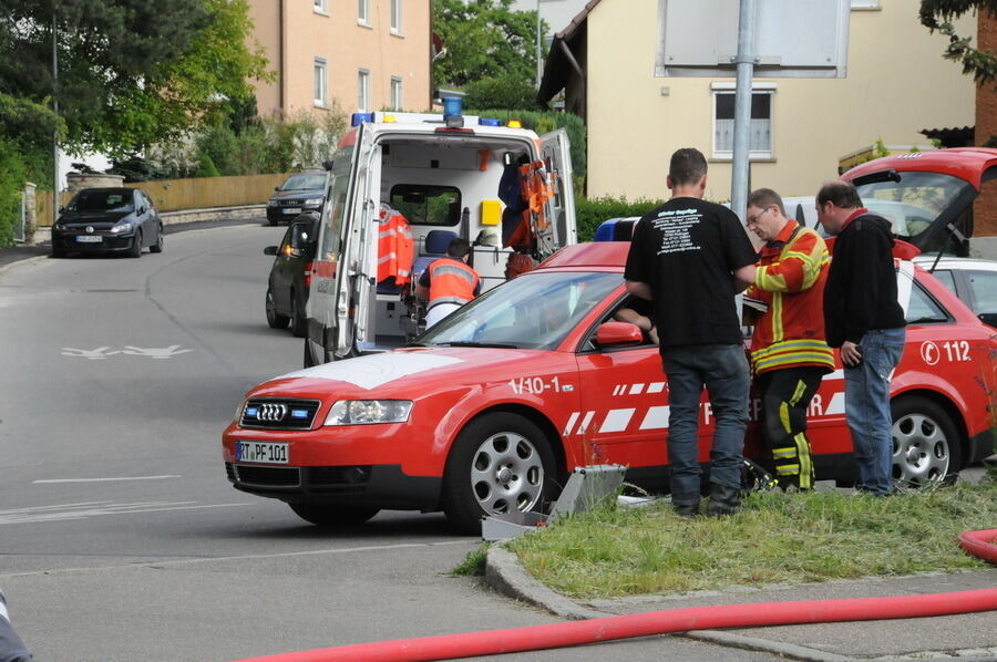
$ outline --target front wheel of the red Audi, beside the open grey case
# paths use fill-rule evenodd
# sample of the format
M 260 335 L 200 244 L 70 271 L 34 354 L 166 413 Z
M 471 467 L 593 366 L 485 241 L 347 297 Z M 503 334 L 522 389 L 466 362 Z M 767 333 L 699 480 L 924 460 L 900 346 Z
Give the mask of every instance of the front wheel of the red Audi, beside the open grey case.
M 524 416 L 485 414 L 458 435 L 443 476 L 443 511 L 466 534 L 481 534 L 485 515 L 541 511 L 557 489 L 554 453 Z

